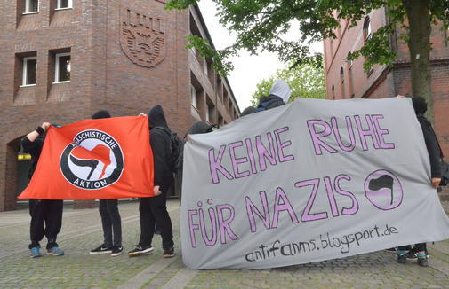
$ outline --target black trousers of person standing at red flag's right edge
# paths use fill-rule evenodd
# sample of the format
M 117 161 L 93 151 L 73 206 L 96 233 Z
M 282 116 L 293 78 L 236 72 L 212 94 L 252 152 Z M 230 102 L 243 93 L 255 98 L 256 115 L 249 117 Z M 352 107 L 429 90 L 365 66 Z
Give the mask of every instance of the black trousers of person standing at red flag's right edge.
M 151 246 L 155 233 L 155 223 L 157 229 L 161 231 L 163 248 L 173 246 L 172 220 L 167 212 L 167 191 L 156 197 L 140 198 L 140 240 L 141 246 Z

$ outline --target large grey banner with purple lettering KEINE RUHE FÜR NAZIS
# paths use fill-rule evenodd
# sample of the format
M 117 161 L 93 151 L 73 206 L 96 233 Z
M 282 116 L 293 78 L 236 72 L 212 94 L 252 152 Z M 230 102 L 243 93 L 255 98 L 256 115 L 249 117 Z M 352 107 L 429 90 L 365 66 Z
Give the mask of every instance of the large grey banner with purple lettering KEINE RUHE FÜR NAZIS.
M 410 99 L 297 99 L 191 138 L 181 207 L 191 269 L 271 268 L 449 238 Z

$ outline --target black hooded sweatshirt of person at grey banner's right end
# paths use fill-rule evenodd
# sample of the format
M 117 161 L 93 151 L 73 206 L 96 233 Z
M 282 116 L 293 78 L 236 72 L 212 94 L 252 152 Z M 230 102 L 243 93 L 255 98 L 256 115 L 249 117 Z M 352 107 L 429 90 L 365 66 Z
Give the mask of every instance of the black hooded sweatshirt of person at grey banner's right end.
M 438 144 L 437 135 L 432 128 L 430 122 L 424 116 L 427 111 L 426 100 L 421 97 L 413 97 L 413 108 L 416 113 L 416 118 L 420 121 L 422 134 L 424 135 L 424 141 L 426 143 L 427 151 L 429 152 L 430 159 L 430 172 L 431 177 L 441 177 L 441 168 L 439 165 L 440 158 L 443 158 L 443 152 Z

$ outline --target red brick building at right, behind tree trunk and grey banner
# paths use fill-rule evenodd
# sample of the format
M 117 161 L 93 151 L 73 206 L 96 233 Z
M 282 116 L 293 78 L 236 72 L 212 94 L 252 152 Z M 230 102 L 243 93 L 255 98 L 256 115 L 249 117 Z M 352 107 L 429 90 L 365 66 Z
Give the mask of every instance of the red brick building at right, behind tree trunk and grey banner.
M 348 29 L 349 23 L 341 20 L 341 28 L 335 31 L 337 39 L 326 39 L 325 78 L 328 99 L 390 98 L 397 94 L 412 94 L 410 55 L 408 46 L 399 39 L 402 31 L 397 28 L 390 36 L 391 50 L 397 51 L 392 67 L 376 65 L 364 72 L 364 59 L 347 61 L 351 51 L 360 49 L 366 39 L 389 21 L 385 9 L 366 15 L 357 27 Z M 449 156 L 449 31 L 432 27 L 430 41 L 431 90 L 434 101 L 434 128 L 446 156 Z

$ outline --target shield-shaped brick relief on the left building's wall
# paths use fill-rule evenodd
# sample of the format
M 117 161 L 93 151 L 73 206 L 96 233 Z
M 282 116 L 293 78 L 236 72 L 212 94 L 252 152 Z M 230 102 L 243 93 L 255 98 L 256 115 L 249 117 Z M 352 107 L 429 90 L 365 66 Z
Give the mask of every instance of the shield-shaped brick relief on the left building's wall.
M 160 17 L 120 12 L 120 44 L 124 54 L 138 66 L 154 67 L 165 58 L 165 35 Z

